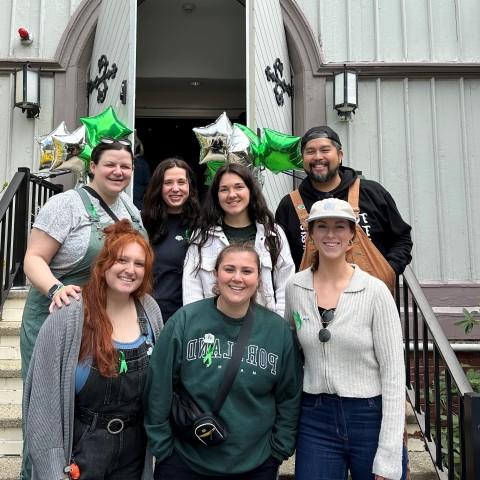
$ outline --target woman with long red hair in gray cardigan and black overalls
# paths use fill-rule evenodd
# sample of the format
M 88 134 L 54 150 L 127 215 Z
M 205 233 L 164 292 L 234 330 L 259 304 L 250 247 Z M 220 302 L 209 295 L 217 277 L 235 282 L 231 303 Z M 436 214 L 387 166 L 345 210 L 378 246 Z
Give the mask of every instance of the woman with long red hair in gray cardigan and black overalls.
M 33 479 L 151 475 L 142 394 L 163 325 L 148 295 L 152 263 L 129 221 L 109 226 L 82 298 L 42 326 L 24 389 Z

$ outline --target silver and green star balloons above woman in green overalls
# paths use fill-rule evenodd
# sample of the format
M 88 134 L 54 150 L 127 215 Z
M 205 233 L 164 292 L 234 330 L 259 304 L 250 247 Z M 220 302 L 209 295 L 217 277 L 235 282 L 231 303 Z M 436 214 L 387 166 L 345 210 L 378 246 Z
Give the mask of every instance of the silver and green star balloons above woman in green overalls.
M 65 122 L 61 122 L 54 130 L 46 135 L 36 137 L 40 144 L 40 168 L 54 170 L 67 159 L 78 156 L 88 165 L 93 148 L 100 143 L 103 137 L 122 138 L 132 133 L 115 114 L 112 107 L 108 107 L 94 117 L 80 118 L 82 125 L 73 132 L 69 132 Z

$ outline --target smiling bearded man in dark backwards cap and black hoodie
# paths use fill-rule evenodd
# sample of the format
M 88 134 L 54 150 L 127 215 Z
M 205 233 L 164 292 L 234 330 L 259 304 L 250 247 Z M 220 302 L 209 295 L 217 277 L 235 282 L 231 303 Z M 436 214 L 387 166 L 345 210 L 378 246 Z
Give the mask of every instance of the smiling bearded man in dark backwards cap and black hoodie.
M 342 165 L 342 144 L 330 127 L 308 130 L 301 140 L 301 152 L 307 174 L 298 188 L 301 203 L 294 205 L 290 194 L 286 195 L 275 214 L 275 220 L 287 235 L 297 270 L 307 232 L 300 223 L 296 208 L 306 209 L 308 213 L 313 203 L 324 198 L 348 200 L 349 187 L 358 176 L 355 170 Z M 359 208 L 360 226 L 393 270 L 402 273 L 412 259 L 411 227 L 403 221 L 392 196 L 379 183 L 362 179 Z

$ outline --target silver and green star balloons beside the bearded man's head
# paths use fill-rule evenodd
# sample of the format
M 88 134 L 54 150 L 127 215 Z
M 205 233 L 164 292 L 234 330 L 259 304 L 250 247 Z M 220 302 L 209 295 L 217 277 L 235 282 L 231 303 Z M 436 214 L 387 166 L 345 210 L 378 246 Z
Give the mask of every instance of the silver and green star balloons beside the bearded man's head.
M 225 112 L 210 125 L 193 131 L 200 144 L 200 164 L 207 165 L 207 184 L 218 168 L 229 162 L 273 173 L 302 168 L 300 137 L 264 128 L 259 138 L 245 125 L 232 125 Z

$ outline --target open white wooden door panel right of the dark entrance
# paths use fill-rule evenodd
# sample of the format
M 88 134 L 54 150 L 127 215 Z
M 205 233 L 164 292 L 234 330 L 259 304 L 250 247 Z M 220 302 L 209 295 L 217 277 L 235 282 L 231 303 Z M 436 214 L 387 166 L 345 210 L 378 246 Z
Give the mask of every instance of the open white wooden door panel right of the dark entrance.
M 285 93 L 284 104 L 277 105 L 273 92 L 275 84 L 268 81 L 265 75 L 265 68 L 273 67 L 275 60 L 280 58 L 283 63 L 283 78 L 287 83 L 292 81 L 279 0 L 251 0 L 247 8 L 253 9 L 249 11 L 252 23 L 247 35 L 247 56 L 251 68 L 247 79 L 248 125 L 252 129 L 270 128 L 291 134 L 291 98 Z M 263 193 L 272 210 L 275 210 L 280 199 L 291 190 L 291 186 L 290 176 L 265 172 Z

